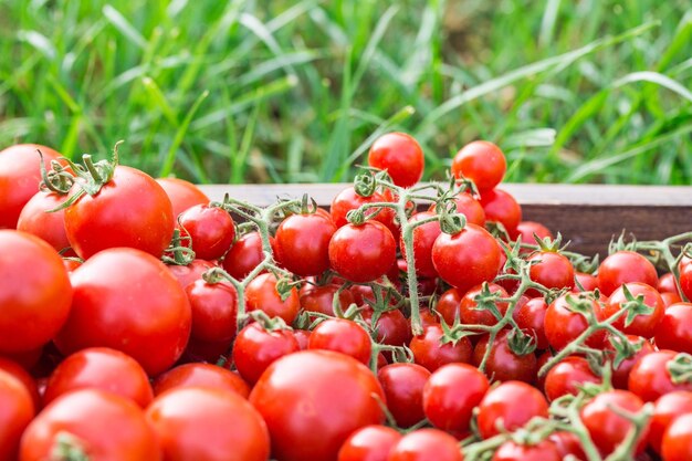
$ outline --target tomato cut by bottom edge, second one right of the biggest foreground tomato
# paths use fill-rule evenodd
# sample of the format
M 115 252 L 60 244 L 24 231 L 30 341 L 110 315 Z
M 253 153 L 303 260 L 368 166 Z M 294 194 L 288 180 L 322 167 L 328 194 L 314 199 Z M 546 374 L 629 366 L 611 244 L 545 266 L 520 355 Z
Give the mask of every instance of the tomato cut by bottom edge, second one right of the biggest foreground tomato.
M 387 461 L 463 461 L 457 439 L 439 429 L 418 429 L 394 446 Z

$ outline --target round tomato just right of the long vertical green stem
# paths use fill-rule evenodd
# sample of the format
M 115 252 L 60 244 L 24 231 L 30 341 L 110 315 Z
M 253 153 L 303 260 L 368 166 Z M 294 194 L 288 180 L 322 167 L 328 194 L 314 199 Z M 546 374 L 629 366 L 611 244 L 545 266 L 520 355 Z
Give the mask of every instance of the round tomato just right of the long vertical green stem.
M 485 229 L 466 224 L 454 235 L 441 233 L 432 245 L 432 264 L 440 277 L 466 292 L 492 282 L 500 270 L 500 247 Z

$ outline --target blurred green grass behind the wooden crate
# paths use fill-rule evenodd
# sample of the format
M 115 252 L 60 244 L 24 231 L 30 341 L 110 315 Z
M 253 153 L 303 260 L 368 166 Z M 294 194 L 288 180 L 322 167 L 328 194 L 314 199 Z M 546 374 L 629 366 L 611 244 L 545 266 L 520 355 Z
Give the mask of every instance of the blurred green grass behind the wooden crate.
M 400 129 L 427 178 L 485 138 L 512 181 L 689 185 L 689 4 L 0 0 L 0 146 L 310 182 Z

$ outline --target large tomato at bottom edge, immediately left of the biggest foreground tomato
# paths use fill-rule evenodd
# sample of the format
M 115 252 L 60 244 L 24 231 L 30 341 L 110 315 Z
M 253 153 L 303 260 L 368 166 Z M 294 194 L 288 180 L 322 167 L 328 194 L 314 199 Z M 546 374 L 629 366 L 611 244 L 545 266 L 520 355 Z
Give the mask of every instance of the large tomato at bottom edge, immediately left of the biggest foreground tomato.
M 156 397 L 146 417 L 166 460 L 265 461 L 266 425 L 239 395 L 211 388 L 178 388 Z

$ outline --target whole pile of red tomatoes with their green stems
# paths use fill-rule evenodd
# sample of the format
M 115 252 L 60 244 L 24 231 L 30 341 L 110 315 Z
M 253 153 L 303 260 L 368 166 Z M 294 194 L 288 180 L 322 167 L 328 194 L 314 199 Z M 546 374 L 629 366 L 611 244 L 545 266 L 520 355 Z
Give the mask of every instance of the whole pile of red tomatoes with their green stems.
M 0 151 L 0 461 L 692 459 L 690 233 L 569 252 L 486 142 L 329 210 L 83 160 Z

